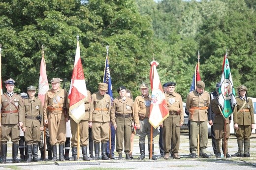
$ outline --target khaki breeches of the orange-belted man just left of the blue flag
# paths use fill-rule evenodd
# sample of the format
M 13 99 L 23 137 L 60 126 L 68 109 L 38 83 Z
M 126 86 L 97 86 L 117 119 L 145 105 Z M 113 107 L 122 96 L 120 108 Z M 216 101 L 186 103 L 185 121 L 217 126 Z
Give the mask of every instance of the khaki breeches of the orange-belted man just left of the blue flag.
M 109 140 L 109 122 L 92 122 L 92 139 L 94 143 L 106 143 Z

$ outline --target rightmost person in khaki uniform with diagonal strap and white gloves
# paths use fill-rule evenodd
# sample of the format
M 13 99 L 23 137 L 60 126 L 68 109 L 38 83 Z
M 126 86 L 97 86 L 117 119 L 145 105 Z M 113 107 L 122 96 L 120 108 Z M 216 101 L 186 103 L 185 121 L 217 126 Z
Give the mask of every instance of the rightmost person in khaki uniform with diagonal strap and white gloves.
M 250 136 L 252 135 L 255 123 L 253 101 L 247 97 L 246 93 L 246 86 L 241 85 L 238 87 L 239 97 L 236 97 L 237 105 L 233 113 L 234 129 L 236 131 L 240 157 L 250 157 Z

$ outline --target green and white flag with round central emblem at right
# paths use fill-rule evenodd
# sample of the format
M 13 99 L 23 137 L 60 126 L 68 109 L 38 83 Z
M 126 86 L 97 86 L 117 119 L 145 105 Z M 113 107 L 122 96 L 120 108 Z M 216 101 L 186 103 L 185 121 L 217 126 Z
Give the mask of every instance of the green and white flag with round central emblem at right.
M 221 88 L 219 89 L 219 105 L 225 118 L 229 117 L 235 108 L 235 89 L 233 86 L 227 53 L 224 56 Z

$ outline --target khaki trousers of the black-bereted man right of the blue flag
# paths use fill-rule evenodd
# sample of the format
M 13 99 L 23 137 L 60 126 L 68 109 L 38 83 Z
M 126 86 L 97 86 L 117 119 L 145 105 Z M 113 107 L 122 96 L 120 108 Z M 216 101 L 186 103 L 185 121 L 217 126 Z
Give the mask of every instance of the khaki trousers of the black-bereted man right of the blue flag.
M 125 152 L 130 151 L 130 136 L 131 136 L 131 117 L 123 118 L 120 116 L 116 117 L 116 151 L 122 153 L 123 142 L 125 140 Z

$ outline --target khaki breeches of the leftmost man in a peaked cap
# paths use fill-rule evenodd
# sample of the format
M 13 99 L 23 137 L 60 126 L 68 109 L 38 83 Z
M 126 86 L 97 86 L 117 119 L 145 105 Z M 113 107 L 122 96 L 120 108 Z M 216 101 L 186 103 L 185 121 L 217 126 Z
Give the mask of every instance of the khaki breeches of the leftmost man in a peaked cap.
M 1 143 L 7 143 L 11 137 L 13 144 L 19 144 L 20 128 L 18 124 L 1 124 Z

